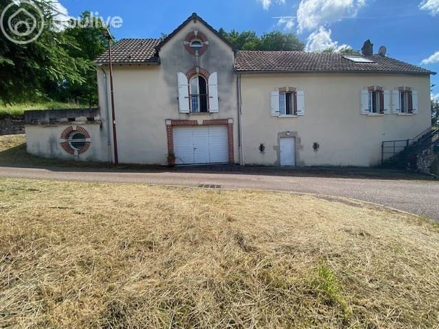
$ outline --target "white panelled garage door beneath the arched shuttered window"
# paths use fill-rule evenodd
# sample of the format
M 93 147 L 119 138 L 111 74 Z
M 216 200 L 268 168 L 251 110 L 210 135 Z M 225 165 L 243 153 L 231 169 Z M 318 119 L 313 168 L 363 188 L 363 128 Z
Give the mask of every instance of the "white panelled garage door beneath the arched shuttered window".
M 176 164 L 228 162 L 227 127 L 174 127 Z

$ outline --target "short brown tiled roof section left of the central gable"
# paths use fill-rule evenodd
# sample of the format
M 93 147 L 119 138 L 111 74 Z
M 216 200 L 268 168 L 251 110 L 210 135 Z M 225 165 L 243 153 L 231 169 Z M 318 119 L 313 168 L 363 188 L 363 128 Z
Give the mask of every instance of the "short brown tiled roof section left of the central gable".
M 121 39 L 111 47 L 112 60 L 115 64 L 141 64 L 159 62 L 156 47 L 161 39 Z M 97 63 L 110 62 L 108 51 L 99 56 Z

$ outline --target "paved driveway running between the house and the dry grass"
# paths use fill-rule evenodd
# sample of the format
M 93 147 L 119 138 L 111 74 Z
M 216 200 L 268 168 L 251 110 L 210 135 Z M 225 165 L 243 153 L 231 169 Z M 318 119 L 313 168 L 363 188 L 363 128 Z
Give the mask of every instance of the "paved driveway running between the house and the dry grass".
M 355 170 L 357 169 L 283 171 L 242 167 L 141 170 L 0 167 L 0 176 L 171 186 L 214 184 L 222 188 L 318 193 L 382 204 L 439 221 L 439 182 L 405 177 L 405 173 L 401 172 Z M 420 179 L 425 177 L 420 176 Z

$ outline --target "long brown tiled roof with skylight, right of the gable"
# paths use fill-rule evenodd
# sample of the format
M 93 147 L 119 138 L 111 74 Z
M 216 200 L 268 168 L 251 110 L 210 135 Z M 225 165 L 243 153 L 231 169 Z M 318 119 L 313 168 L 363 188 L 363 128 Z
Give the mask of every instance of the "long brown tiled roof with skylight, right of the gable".
M 239 72 L 385 72 L 436 74 L 412 64 L 379 55 L 361 56 L 373 63 L 358 63 L 339 53 L 304 51 L 238 51 L 235 69 Z

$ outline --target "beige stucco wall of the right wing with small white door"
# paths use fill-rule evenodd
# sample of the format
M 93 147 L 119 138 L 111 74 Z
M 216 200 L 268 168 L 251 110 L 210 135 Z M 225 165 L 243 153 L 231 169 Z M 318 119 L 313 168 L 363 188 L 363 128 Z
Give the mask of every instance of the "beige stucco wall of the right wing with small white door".
M 305 91 L 305 115 L 271 117 L 276 88 Z M 418 114 L 361 114 L 360 93 L 368 86 L 418 90 Z M 242 141 L 245 164 L 279 164 L 279 134 L 297 136 L 298 166 L 372 166 L 383 141 L 414 138 L 431 125 L 429 76 L 358 73 L 243 74 Z M 265 151 L 259 145 L 265 145 Z M 318 151 L 313 149 L 318 143 Z

